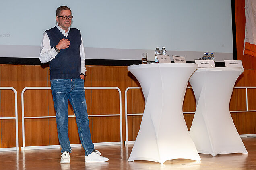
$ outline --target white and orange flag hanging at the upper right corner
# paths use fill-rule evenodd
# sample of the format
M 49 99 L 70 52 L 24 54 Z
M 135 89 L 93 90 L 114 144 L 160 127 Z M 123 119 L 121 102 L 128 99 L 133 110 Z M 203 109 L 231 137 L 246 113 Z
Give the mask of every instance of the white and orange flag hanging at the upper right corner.
M 244 54 L 256 57 L 256 0 L 245 0 Z

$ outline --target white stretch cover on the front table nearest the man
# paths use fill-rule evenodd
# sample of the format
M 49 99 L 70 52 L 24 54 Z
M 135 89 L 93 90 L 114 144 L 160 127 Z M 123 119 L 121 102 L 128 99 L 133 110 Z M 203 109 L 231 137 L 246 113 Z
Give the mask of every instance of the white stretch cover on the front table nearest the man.
M 140 130 L 129 161 L 164 163 L 171 159 L 201 160 L 190 137 L 182 104 L 188 79 L 198 68 L 193 63 L 154 63 L 128 67 L 145 98 Z

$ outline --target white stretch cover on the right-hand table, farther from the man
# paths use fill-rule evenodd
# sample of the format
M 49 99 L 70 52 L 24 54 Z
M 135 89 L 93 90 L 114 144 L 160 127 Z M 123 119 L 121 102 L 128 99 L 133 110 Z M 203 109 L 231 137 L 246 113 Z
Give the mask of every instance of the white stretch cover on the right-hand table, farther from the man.
M 235 67 L 199 68 L 191 76 L 196 113 L 190 135 L 198 153 L 248 153 L 229 112 L 235 81 L 243 71 Z

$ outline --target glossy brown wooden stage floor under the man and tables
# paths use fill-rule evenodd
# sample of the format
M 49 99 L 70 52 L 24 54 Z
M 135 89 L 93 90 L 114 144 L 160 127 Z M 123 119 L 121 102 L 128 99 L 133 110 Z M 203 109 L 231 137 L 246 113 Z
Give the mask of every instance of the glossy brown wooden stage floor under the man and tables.
M 95 146 L 108 162 L 84 162 L 83 148 L 72 148 L 70 164 L 60 164 L 60 149 L 0 152 L 0 170 L 256 170 L 256 138 L 242 138 L 248 154 L 200 154 L 202 161 L 169 160 L 128 162 L 133 144 Z

